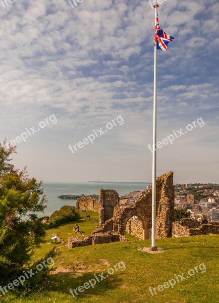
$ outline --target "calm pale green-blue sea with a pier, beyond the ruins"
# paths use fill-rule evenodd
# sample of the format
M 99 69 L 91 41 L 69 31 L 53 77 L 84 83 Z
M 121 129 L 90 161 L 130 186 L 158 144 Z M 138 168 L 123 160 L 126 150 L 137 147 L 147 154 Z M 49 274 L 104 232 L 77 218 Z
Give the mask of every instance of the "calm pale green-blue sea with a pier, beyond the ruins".
M 115 189 L 118 194 L 126 195 L 131 191 L 146 189 L 151 183 L 44 183 L 43 192 L 48 200 L 44 213 L 38 213 L 38 217 L 50 216 L 54 211 L 59 210 L 64 205 L 76 206 L 77 199 L 61 199 L 61 194 L 99 194 L 99 189 Z

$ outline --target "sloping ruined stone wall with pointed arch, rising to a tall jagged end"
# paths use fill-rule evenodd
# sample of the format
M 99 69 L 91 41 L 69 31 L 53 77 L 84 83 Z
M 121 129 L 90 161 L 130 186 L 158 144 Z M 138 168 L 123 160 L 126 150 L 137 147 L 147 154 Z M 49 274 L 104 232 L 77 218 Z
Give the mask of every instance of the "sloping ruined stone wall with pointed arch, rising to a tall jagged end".
M 152 225 L 152 186 L 131 206 L 114 209 L 114 230 L 125 234 L 127 222 L 137 216 L 143 225 L 143 239 L 150 239 Z M 172 236 L 174 220 L 173 172 L 156 178 L 156 238 Z

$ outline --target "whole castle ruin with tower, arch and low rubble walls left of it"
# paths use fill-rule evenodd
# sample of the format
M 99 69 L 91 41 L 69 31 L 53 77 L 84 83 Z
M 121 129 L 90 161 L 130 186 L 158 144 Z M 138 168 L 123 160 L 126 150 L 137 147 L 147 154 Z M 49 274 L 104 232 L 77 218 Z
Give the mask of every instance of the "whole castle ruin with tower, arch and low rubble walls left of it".
M 130 227 L 130 233 L 135 233 L 142 239 L 151 237 L 152 217 L 152 187 L 132 205 L 120 208 L 119 194 L 114 189 L 99 190 L 99 201 L 92 197 L 82 197 L 77 200 L 77 208 L 99 212 L 99 225 L 90 236 L 79 239 L 70 236 L 67 246 L 69 248 L 127 241 L 125 230 Z M 137 216 L 140 220 L 133 220 Z M 174 220 L 174 185 L 173 172 L 163 174 L 156 178 L 156 237 L 172 236 L 172 223 Z M 136 222 L 133 222 L 136 221 Z M 129 222 L 129 223 L 128 223 Z M 128 223 L 128 225 L 127 225 Z M 142 226 L 140 230 L 140 224 Z M 127 227 L 128 226 L 128 227 Z M 135 231 L 134 231 L 135 230 Z M 141 234 L 140 234 L 141 233 Z

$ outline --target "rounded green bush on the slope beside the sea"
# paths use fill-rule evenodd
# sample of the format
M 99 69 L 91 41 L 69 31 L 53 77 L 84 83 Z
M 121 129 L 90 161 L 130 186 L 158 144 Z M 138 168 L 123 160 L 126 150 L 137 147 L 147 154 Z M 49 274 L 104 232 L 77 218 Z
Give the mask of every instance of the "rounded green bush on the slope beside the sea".
M 65 205 L 59 211 L 51 214 L 48 220 L 49 228 L 59 226 L 64 223 L 75 221 L 80 218 L 79 211 L 74 206 Z

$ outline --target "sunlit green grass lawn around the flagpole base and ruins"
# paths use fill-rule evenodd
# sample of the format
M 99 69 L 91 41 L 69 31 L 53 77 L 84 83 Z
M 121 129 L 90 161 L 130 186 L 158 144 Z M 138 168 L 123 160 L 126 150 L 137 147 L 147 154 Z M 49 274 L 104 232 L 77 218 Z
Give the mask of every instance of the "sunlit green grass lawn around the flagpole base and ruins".
M 83 215 L 86 215 L 83 214 Z M 98 216 L 98 214 L 97 214 Z M 92 218 L 92 217 L 91 217 Z M 93 221 L 77 222 L 85 234 L 90 233 Z M 97 222 L 96 222 L 97 223 Z M 72 232 L 74 224 L 66 224 L 55 229 L 65 238 Z M 53 231 L 52 231 L 53 232 Z M 51 230 L 48 230 L 48 235 Z M 69 274 L 53 274 L 51 281 L 41 289 L 31 290 L 29 294 L 10 291 L 2 297 L 3 302 L 85 302 L 85 303 L 217 303 L 218 297 L 218 253 L 219 236 L 204 235 L 181 238 L 157 239 L 157 245 L 165 249 L 163 254 L 151 255 L 138 250 L 150 246 L 150 240 L 139 240 L 128 235 L 129 242 L 114 242 L 78 247 L 69 250 L 63 245 L 57 245 L 60 255 L 54 258 L 59 269 L 68 269 Z M 38 256 L 44 253 L 37 252 Z M 36 257 L 36 255 L 35 255 Z M 118 270 L 103 281 L 96 283 L 94 288 L 85 289 L 78 296 L 70 295 L 70 288 L 75 289 L 101 272 L 106 276 L 107 268 L 123 261 L 126 269 Z M 153 296 L 149 287 L 157 287 L 175 278 L 174 274 L 185 277 L 190 269 L 204 263 L 206 272 L 198 268 L 198 273 L 163 291 L 157 291 Z M 179 277 L 180 279 L 180 277 Z M 23 295 L 23 297 L 20 297 Z

